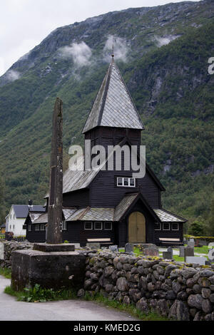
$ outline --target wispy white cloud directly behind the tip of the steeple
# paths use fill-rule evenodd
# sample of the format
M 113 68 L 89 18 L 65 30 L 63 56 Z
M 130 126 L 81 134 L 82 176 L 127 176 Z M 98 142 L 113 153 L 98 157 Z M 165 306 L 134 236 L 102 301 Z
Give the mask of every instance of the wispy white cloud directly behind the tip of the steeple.
M 128 45 L 126 42 L 126 38 L 108 35 L 106 44 L 103 48 L 104 60 L 107 62 L 109 62 L 112 53 L 112 46 L 116 60 L 121 60 L 126 63 L 128 54 Z

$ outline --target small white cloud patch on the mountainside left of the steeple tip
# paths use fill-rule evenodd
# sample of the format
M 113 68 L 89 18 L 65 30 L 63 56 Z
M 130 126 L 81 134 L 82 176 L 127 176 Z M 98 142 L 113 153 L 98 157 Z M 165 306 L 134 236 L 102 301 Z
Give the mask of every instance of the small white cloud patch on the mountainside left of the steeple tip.
M 72 43 L 71 46 L 63 46 L 58 50 L 61 58 L 72 58 L 76 67 L 88 66 L 91 64 L 91 48 L 85 42 Z

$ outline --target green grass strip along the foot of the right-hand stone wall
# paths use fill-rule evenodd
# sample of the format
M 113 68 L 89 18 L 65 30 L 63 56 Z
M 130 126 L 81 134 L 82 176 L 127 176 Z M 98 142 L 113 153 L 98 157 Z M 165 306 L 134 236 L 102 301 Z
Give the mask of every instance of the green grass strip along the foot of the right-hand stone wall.
M 84 299 L 94 301 L 98 304 L 108 306 L 113 309 L 126 311 L 128 314 L 131 314 L 132 316 L 141 319 L 143 321 L 169 321 L 167 317 L 161 316 L 157 314 L 155 311 L 150 311 L 148 314 L 146 314 L 137 309 L 136 306 L 134 306 L 133 304 L 122 304 L 121 302 L 116 301 L 114 299 L 111 300 L 106 297 L 103 297 L 103 295 L 100 293 L 91 296 L 88 292 L 86 292 Z

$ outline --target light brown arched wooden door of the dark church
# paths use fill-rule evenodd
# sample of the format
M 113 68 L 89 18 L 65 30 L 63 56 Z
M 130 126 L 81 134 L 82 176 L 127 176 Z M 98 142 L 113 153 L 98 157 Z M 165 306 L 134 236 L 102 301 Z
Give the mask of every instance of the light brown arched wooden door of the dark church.
M 146 243 L 146 220 L 141 212 L 128 217 L 128 242 Z

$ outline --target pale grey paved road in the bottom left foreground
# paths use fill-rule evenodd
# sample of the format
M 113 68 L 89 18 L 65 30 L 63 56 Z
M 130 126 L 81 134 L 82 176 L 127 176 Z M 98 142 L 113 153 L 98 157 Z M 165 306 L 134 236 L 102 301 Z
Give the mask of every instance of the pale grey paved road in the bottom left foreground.
M 4 293 L 10 279 L 0 276 L 0 321 L 139 321 L 93 301 L 24 302 Z

